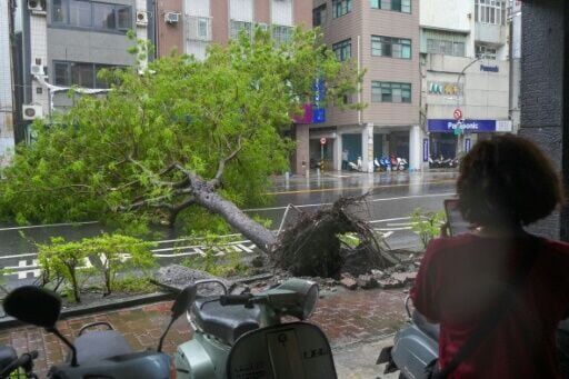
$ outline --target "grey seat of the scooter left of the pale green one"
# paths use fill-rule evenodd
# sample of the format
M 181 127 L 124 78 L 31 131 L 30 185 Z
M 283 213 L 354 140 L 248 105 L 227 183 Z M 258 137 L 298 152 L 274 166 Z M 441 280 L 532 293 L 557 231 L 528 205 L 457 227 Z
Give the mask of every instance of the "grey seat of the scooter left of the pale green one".
M 74 343 L 77 362 L 84 365 L 92 361 L 132 352 L 129 343 L 116 330 L 93 330 L 79 336 Z M 68 357 L 68 361 L 71 356 Z

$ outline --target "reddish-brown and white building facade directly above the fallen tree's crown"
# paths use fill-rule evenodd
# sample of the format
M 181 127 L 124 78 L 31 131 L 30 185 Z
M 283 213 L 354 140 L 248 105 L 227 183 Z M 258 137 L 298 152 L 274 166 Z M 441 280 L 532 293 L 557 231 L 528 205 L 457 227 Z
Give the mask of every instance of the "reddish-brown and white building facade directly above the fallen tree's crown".
M 176 49 L 203 59 L 208 44 L 227 43 L 254 26 L 286 40 L 293 26 L 312 23 L 308 0 L 157 0 L 154 7 L 159 56 Z

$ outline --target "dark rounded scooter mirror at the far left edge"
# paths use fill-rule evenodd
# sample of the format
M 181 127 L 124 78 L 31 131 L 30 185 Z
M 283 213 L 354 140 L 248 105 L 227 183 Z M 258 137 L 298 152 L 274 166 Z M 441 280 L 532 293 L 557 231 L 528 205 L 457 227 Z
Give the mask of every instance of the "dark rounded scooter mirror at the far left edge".
M 6 297 L 3 308 L 7 315 L 20 321 L 53 329 L 61 312 L 61 299 L 42 288 L 23 286 Z

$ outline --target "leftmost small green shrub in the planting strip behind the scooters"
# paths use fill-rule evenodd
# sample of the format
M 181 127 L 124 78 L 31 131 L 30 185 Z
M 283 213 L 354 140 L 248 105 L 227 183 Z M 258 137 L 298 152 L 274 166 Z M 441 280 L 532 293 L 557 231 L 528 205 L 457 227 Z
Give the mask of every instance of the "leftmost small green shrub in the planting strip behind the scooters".
M 38 243 L 38 260 L 42 268 L 43 283 L 63 279 L 72 299 L 81 302 L 79 267 L 88 259 L 88 249 L 81 242 L 68 242 L 62 237 L 52 237 L 50 243 Z

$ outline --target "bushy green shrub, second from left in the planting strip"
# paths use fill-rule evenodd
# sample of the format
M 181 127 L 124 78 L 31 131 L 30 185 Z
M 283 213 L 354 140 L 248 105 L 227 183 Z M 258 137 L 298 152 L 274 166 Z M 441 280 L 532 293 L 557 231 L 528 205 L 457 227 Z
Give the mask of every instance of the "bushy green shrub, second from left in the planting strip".
M 101 235 L 86 238 L 80 242 L 89 257 L 97 257 L 98 273 L 104 286 L 104 295 L 110 295 L 117 286 L 117 275 L 129 270 L 148 270 L 156 266 L 151 249 L 152 242 L 122 235 Z M 124 286 L 124 283 L 122 283 Z

